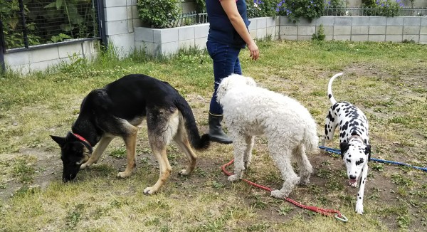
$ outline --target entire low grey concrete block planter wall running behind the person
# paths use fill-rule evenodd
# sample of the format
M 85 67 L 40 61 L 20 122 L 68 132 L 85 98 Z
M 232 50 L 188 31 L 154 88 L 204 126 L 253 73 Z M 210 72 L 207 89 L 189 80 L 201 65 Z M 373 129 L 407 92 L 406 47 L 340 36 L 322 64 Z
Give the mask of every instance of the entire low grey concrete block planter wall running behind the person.
M 292 22 L 285 16 L 250 19 L 253 38 L 311 40 L 324 28 L 327 41 L 376 41 L 427 43 L 426 17 L 322 16 Z M 209 23 L 179 28 L 135 28 L 135 47 L 157 56 L 170 55 L 182 48 L 205 48 Z

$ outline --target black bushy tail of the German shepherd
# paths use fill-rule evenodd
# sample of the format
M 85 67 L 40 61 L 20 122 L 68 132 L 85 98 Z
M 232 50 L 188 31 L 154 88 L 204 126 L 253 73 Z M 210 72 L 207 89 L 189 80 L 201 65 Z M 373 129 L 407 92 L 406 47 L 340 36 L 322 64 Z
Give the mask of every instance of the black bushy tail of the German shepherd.
M 191 146 L 198 150 L 207 149 L 211 144 L 211 139 L 208 134 L 199 135 L 199 129 L 197 128 L 196 120 L 194 120 L 193 111 L 189 103 L 181 95 L 176 97 L 174 103 L 184 117 L 184 127 L 186 128 L 187 135 L 189 135 Z

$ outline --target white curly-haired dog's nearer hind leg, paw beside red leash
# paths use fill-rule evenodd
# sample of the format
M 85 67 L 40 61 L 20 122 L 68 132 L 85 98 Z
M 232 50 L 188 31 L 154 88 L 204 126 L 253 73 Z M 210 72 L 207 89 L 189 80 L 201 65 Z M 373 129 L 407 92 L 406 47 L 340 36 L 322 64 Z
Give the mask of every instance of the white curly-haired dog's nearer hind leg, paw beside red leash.
M 271 191 L 271 196 L 277 199 L 283 199 L 289 196 L 295 184 L 300 181 L 300 178 L 295 174 L 292 168 L 290 160 L 292 154 L 290 154 L 290 150 L 283 150 L 283 154 L 279 154 L 280 149 L 277 149 L 277 147 L 275 149 L 276 150 L 270 148 L 270 154 L 272 154 L 273 160 L 280 170 L 284 182 L 282 189 Z

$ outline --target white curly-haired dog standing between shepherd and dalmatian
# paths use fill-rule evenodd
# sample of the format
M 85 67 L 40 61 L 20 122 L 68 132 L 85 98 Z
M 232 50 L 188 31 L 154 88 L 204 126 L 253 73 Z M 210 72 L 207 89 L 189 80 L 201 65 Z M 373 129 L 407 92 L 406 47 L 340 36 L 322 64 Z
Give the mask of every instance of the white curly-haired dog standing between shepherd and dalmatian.
M 280 93 L 256 86 L 255 80 L 233 74 L 224 78 L 217 92 L 223 107 L 228 133 L 233 139 L 234 174 L 229 181 L 242 179 L 243 170 L 251 163 L 255 135 L 268 139 L 268 149 L 280 169 L 283 187 L 271 196 L 283 199 L 295 184 L 308 184 L 312 165 L 305 152 L 317 149 L 316 122 L 300 102 Z M 300 176 L 292 169 L 296 159 Z

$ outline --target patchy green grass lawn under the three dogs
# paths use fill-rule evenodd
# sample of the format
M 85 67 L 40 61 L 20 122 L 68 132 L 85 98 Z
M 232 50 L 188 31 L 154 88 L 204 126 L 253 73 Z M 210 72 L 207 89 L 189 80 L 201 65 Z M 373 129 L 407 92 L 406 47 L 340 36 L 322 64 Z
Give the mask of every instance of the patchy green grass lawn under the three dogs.
M 427 46 L 414 43 L 260 41 L 260 59 L 241 52 L 243 73 L 259 85 L 299 100 L 312 113 L 321 136 L 334 97 L 360 107 L 368 117 L 372 157 L 427 167 Z M 233 157 L 231 144 L 212 144 L 199 156 L 194 174 L 178 176 L 186 157 L 168 148 L 172 175 L 159 193 L 143 190 L 159 177 L 142 124 L 137 168 L 125 168 L 125 147 L 116 138 L 100 162 L 63 184 L 60 149 L 49 135 L 65 136 L 90 90 L 130 73 L 171 83 L 189 101 L 200 131 L 207 130 L 213 85 L 212 62 L 204 52 L 172 58 L 135 53 L 117 60 L 106 53 L 95 62 L 73 58 L 43 73 L 0 78 L 0 231 L 426 231 L 427 173 L 369 163 L 364 215 L 354 212 L 357 189 L 348 186 L 340 157 L 309 154 L 314 168 L 308 186 L 290 198 L 337 209 L 349 221 L 273 199 L 243 181 L 231 183 L 221 165 Z M 285 141 L 284 141 L 285 142 Z M 327 144 L 338 147 L 338 138 Z M 232 166 L 228 168 L 233 172 Z M 268 155 L 265 137 L 255 139 L 247 179 L 278 189 L 282 180 Z

